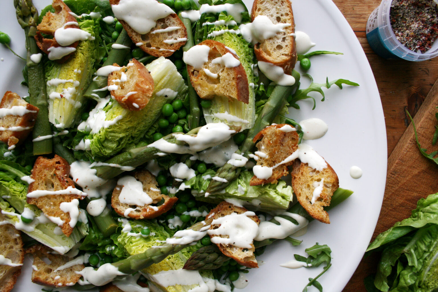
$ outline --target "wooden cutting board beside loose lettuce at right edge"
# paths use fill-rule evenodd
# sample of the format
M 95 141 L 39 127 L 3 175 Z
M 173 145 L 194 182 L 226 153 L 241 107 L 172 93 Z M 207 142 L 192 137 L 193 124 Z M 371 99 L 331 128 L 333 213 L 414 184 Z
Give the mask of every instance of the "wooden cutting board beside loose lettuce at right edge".
M 438 106 L 438 80 L 435 81 L 413 118 L 418 140 L 421 147 L 428 150 L 427 153 L 438 150 L 438 143 L 432 145 L 435 125 L 438 125 L 435 118 L 435 113 L 438 112 L 436 106 Z M 421 155 L 411 123 L 388 158 L 385 195 L 373 239 L 394 223 L 409 217 L 420 198 L 437 192 L 438 165 Z M 363 259 L 343 291 L 365 292 L 363 279 L 375 273 L 377 261 L 376 254 Z

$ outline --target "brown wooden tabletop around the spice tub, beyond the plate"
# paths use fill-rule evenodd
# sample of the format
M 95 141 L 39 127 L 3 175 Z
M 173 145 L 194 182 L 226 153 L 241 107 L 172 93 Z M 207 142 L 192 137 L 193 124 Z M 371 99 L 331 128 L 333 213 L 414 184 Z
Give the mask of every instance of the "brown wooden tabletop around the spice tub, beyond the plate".
M 370 48 L 365 35 L 367 19 L 381 1 L 333 0 L 333 2 L 343 13 L 353 28 L 353 31 L 356 33 L 357 39 L 362 45 L 370 62 L 371 69 L 373 70 L 385 115 L 389 157 L 410 123 L 409 118 L 406 116 L 405 109 L 408 109 L 412 116 L 415 115 L 428 92 L 431 90 L 432 85 L 438 78 L 438 58 L 423 62 L 382 59 Z M 396 155 L 393 155 L 393 157 L 396 157 Z M 436 167 L 432 164 L 431 168 Z M 434 192 L 436 191 L 437 190 Z M 387 192 L 388 187 L 385 192 L 385 197 Z M 421 195 L 424 197 L 427 194 L 428 193 L 424 193 Z M 417 199 L 408 202 L 405 210 L 399 215 L 399 218 L 393 218 L 392 222 L 388 222 L 386 225 L 392 226 L 394 222 L 409 217 L 410 211 L 415 208 L 416 200 Z M 381 218 L 382 214 L 388 211 L 385 208 L 384 201 Z M 378 227 L 379 224 L 384 224 L 381 223 L 381 218 L 379 219 Z M 374 232 L 373 238 L 376 236 L 378 227 L 376 228 L 376 232 Z M 375 265 L 375 257 L 362 260 L 353 277 L 346 285 L 344 292 L 365 292 L 363 279 L 368 274 L 375 272 Z

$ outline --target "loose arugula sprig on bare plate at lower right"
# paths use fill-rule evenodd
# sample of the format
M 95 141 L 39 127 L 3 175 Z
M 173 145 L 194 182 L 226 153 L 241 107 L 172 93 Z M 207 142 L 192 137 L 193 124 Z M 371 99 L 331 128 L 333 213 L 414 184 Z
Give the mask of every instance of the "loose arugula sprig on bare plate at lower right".
M 310 286 L 316 287 L 320 292 L 322 292 L 322 285 L 316 281 L 322 274 L 324 274 L 332 266 L 330 263 L 332 260 L 332 250 L 329 246 L 319 245 L 316 243 L 314 246 L 309 247 L 304 250 L 309 256 L 303 257 L 299 254 L 294 254 L 295 260 L 306 263 L 304 267 L 319 267 L 321 264 L 325 263 L 324 270 L 318 274 L 315 278 L 309 278 L 309 283 L 304 287 L 303 292 L 307 292 L 307 288 Z

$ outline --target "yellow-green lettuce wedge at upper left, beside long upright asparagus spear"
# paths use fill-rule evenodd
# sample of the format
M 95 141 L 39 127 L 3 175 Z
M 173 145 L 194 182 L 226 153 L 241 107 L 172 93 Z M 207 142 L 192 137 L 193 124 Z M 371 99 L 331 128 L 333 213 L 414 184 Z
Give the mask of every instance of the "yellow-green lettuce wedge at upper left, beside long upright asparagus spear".
M 79 20 L 78 23 L 80 29 L 95 39 L 79 42 L 67 62 L 50 61 L 46 66 L 49 121 L 60 128 L 71 127 L 81 118 L 79 113 L 86 102 L 84 92 L 92 79 L 99 47 L 99 21 Z

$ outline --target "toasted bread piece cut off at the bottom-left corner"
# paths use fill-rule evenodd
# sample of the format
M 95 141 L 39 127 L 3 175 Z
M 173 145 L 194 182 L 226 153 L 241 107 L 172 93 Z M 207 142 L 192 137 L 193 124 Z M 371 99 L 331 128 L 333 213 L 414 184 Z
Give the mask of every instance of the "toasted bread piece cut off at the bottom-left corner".
M 6 217 L 0 213 L 0 222 Z M 21 233 L 12 224 L 0 225 L 0 254 L 10 259 L 13 264 L 23 264 L 25 252 Z M 9 292 L 21 273 L 21 266 L 0 265 L 0 291 Z

